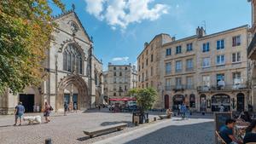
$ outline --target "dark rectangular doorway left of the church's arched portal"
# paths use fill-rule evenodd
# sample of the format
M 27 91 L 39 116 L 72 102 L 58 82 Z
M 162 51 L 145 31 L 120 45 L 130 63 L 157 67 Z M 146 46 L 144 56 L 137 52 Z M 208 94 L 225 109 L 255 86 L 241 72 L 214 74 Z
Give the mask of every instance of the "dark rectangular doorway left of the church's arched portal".
M 25 107 L 25 112 L 33 112 L 35 95 L 20 94 L 19 98 L 22 105 Z

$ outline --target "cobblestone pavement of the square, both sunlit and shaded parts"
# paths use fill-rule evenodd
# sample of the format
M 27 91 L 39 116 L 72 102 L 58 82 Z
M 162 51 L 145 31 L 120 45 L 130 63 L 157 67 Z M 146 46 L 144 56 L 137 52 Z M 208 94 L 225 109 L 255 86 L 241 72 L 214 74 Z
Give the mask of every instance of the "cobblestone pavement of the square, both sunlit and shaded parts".
M 42 113 L 39 114 L 43 115 Z M 155 117 L 152 114 L 150 115 L 151 119 Z M 51 122 L 49 124 L 27 125 L 27 122 L 24 122 L 22 126 L 13 126 L 14 116 L 0 116 L 0 143 L 39 144 L 44 143 L 44 140 L 47 138 L 51 138 L 53 144 L 89 144 L 96 141 L 104 144 L 108 142 L 117 144 L 125 142 L 128 144 L 157 144 L 160 141 L 160 144 L 170 143 L 171 141 L 171 143 L 186 143 L 186 141 L 183 141 L 184 139 L 188 141 L 194 139 L 196 141 L 202 140 L 201 142 L 195 141 L 195 143 L 200 144 L 206 143 L 204 141 L 212 141 L 213 123 L 209 122 L 212 119 L 194 117 L 194 119 L 185 121 L 177 121 L 175 120 L 177 118 L 173 118 L 172 120 L 162 120 L 133 127 L 131 124 L 131 113 L 97 112 L 96 110 L 71 113 L 67 116 L 62 116 L 62 114 L 58 113 L 50 118 Z M 83 133 L 83 130 L 88 128 L 117 123 L 128 123 L 129 127 L 122 131 L 96 136 L 92 139 L 89 139 Z M 124 135 L 125 137 L 123 137 Z M 164 139 L 165 137 L 166 139 Z M 171 141 L 168 142 L 167 139 Z M 211 144 L 212 142 L 208 143 Z

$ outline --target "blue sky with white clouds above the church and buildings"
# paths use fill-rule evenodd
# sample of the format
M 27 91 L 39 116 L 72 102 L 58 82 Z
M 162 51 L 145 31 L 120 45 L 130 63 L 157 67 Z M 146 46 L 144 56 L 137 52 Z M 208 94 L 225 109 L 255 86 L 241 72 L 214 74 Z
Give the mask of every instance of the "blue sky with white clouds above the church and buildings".
M 251 24 L 247 0 L 62 0 L 75 4 L 84 28 L 93 37 L 95 55 L 108 62 L 135 64 L 143 43 L 159 33 L 188 37 L 206 21 L 207 34 Z M 60 14 L 54 8 L 54 14 Z

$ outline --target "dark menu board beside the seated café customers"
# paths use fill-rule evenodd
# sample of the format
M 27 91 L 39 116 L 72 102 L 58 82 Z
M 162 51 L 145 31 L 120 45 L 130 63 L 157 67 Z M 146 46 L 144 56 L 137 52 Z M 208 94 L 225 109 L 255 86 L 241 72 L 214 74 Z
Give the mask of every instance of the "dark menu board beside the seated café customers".
M 215 130 L 219 131 L 230 118 L 232 118 L 232 112 L 214 112 Z

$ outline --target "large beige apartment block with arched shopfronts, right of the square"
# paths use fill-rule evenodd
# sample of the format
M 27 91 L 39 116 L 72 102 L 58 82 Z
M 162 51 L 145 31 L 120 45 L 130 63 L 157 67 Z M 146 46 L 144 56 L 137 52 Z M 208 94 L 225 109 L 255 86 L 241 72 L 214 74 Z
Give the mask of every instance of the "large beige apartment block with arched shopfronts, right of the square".
M 176 110 L 184 101 L 197 112 L 216 112 L 221 105 L 226 111 L 247 110 L 252 103 L 247 45 L 248 26 L 210 35 L 198 27 L 191 37 L 176 40 L 168 36 L 165 43 L 155 49 L 145 47 L 139 55 L 138 87 L 152 84 L 158 90 L 155 108 Z M 159 59 L 147 66 L 147 53 Z

